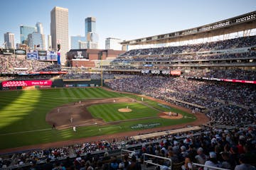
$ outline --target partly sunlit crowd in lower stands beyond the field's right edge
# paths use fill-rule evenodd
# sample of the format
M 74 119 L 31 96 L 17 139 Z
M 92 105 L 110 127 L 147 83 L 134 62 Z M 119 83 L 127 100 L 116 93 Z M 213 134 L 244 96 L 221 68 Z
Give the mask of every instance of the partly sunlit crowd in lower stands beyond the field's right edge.
M 256 119 L 254 85 L 147 76 L 114 79 L 107 85 L 117 91 L 144 94 L 187 108 L 206 108 L 214 124 L 245 125 Z

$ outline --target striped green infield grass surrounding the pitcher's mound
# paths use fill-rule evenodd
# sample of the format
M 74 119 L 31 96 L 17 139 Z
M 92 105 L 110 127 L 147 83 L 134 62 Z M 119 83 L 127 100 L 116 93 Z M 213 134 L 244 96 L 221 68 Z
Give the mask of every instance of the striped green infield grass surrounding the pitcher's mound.
M 119 108 L 132 109 L 131 112 L 119 112 Z M 87 108 L 94 118 L 100 118 L 105 122 L 113 122 L 118 120 L 129 120 L 137 118 L 146 118 L 157 116 L 159 111 L 142 105 L 141 103 L 107 103 L 92 105 Z

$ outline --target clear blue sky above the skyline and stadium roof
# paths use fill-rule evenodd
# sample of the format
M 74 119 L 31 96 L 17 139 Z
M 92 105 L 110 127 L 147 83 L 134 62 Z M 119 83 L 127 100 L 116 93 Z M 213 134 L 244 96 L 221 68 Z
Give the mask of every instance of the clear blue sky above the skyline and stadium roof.
M 68 8 L 69 36 L 85 34 L 85 18 L 96 18 L 100 47 L 105 38 L 132 40 L 171 33 L 213 23 L 256 10 L 255 0 L 4 0 L 0 9 L 0 46 L 4 33 L 15 34 L 19 25 L 43 23 L 50 34 L 50 11 L 54 6 Z

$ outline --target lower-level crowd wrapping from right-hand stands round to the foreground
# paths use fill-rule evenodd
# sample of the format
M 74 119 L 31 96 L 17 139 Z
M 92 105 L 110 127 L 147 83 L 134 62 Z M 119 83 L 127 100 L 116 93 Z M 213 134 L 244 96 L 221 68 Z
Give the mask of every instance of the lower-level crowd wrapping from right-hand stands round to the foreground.
M 170 158 L 174 164 L 183 162 L 183 169 L 190 169 L 193 162 L 226 169 L 254 168 L 252 158 L 256 154 L 256 130 L 253 126 L 242 128 L 252 125 L 256 120 L 254 86 L 147 76 L 113 79 L 107 84 L 117 91 L 145 94 L 192 109 L 196 106 L 180 101 L 204 106 L 211 120 L 210 127 L 203 128 L 200 135 L 196 135 L 198 132 L 183 132 L 144 140 L 124 137 L 112 142 L 92 141 L 68 147 L 21 152 L 15 154 L 13 159 L 0 159 L 0 166 L 4 168 L 31 163 L 31 169 L 134 169 L 135 166 L 142 169 L 142 159 L 147 153 Z M 214 128 L 218 125 L 233 125 L 236 128 Z M 113 157 L 108 154 L 133 145 L 140 147 L 132 155 Z M 96 152 L 105 154 L 103 157 L 93 154 Z M 128 159 L 128 156 L 132 156 L 132 159 Z M 161 164 L 161 169 L 170 164 L 156 158 L 151 161 Z

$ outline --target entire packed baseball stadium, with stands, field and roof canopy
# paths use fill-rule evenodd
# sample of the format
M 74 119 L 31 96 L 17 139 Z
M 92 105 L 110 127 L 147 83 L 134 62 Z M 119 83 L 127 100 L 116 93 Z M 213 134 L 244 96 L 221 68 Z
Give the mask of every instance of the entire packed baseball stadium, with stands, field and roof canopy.
M 65 66 L 58 51 L 1 49 L 1 169 L 255 166 L 255 30 L 252 11 L 72 49 Z

